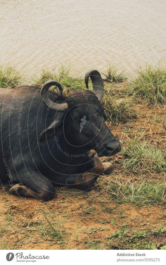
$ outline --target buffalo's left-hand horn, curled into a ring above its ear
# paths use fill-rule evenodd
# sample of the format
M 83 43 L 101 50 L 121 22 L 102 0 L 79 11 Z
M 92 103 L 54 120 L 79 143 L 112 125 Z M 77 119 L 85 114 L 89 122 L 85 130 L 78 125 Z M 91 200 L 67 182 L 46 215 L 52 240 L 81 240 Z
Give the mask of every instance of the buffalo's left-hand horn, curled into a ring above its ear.
M 55 110 L 58 112 L 64 112 L 68 109 L 68 105 L 67 103 L 55 103 L 55 99 L 56 99 L 56 95 L 53 99 L 53 101 L 51 101 L 48 97 L 48 90 L 50 88 L 50 86 L 57 86 L 59 88 L 60 94 L 62 96 L 63 93 L 63 88 L 61 86 L 61 84 L 58 81 L 55 80 L 49 80 L 47 82 L 45 82 L 45 84 L 42 86 L 41 91 L 40 91 L 40 96 L 41 99 L 43 101 L 43 103 L 51 110 Z

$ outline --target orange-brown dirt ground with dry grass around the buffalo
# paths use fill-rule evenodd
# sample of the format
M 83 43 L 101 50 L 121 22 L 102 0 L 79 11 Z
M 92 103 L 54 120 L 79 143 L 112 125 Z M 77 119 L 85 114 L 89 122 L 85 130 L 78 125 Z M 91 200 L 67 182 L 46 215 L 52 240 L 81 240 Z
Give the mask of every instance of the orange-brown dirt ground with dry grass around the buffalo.
M 125 128 L 145 131 L 149 142 L 162 147 L 165 129 L 160 121 L 164 107 L 135 107 L 139 119 L 111 126 L 120 140 L 131 140 Z M 157 121 L 156 121 L 157 120 Z M 105 158 L 102 158 L 104 160 Z M 0 188 L 1 249 L 154 249 L 166 245 L 164 204 L 138 206 L 117 203 L 107 190 L 110 181 L 138 181 L 138 174 L 123 169 L 123 155 L 113 156 L 113 172 L 97 179 L 90 191 L 56 187 L 49 202 L 9 195 L 7 184 Z M 163 182 L 163 174 L 144 175 L 145 180 Z

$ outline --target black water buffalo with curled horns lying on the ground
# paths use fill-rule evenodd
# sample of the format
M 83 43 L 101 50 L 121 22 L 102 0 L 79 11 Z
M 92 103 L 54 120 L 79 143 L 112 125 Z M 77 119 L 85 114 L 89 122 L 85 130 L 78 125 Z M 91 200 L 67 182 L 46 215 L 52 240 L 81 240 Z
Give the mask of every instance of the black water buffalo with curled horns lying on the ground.
M 89 151 L 111 156 L 121 150 L 102 117 L 101 75 L 87 72 L 87 88 L 89 77 L 93 92 L 68 96 L 57 81 L 46 82 L 41 90 L 0 89 L 0 177 L 11 185 L 9 193 L 48 201 L 55 185 L 90 189 L 103 166 L 98 158 L 88 156 Z M 50 86 L 57 86 L 59 93 Z

